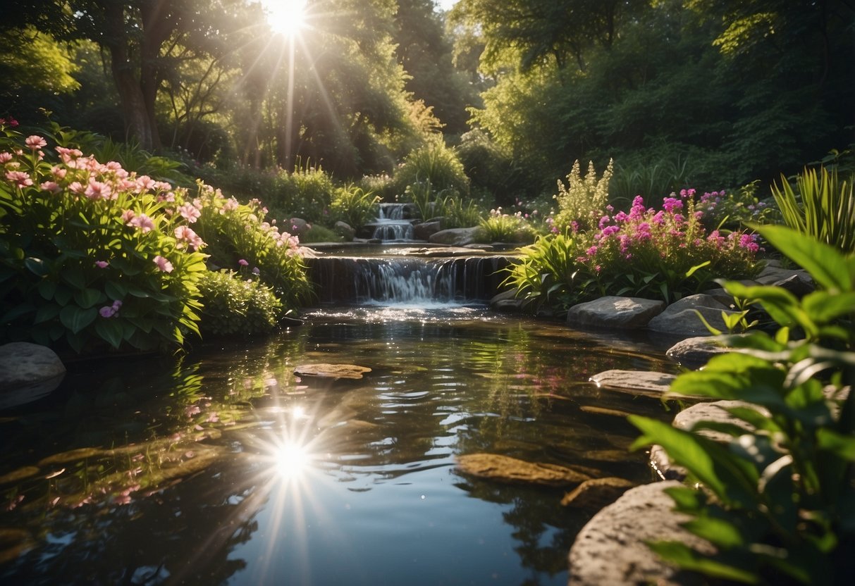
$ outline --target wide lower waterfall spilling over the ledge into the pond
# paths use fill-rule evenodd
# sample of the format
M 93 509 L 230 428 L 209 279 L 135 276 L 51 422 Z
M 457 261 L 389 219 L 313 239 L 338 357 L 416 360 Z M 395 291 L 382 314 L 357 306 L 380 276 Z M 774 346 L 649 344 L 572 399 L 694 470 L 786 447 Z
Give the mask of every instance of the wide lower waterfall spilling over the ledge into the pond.
M 486 302 L 504 279 L 506 256 L 308 259 L 318 301 L 343 304 Z

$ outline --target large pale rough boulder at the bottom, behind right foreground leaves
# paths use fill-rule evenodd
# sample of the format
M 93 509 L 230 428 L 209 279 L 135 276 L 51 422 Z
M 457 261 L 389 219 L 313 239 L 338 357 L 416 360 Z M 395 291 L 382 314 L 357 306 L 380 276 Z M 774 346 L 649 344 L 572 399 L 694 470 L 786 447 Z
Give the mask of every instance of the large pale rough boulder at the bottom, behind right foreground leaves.
M 675 513 L 674 501 L 664 489 L 677 482 L 644 484 L 625 492 L 593 516 L 576 536 L 569 554 L 569 586 L 603 584 L 692 584 L 701 577 L 666 565 L 648 541 L 678 541 L 705 554 L 713 546 L 681 527 L 690 517 Z

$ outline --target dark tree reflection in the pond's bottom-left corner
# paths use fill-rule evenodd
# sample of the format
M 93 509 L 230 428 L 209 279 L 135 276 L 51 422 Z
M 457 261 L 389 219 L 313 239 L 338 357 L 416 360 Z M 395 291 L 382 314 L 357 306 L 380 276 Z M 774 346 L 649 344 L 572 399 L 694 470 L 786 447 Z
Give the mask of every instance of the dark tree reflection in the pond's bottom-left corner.
M 44 543 L 0 566 L 0 581 L 26 584 L 225 583 L 246 566 L 233 549 L 257 530 L 250 466 L 211 466 L 125 506 L 50 512 Z M 208 487 L 200 489 L 200 486 Z

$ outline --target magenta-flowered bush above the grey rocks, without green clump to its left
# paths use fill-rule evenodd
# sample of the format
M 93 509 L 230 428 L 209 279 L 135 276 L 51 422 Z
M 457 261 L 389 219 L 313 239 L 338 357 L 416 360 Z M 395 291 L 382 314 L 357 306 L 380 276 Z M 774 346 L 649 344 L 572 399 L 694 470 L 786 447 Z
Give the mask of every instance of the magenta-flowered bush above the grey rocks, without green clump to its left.
M 576 260 L 601 295 L 661 296 L 670 302 L 703 290 L 713 278 L 758 273 L 756 237 L 707 234 L 693 196 L 694 190 L 672 193 L 660 210 L 646 208 L 636 196 L 628 214 L 604 215 L 598 231 L 581 235 L 586 248 Z

